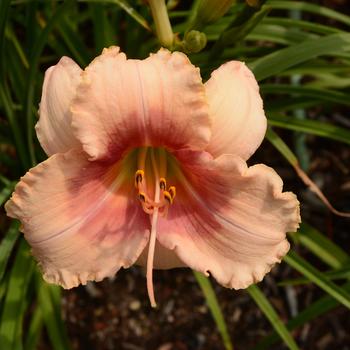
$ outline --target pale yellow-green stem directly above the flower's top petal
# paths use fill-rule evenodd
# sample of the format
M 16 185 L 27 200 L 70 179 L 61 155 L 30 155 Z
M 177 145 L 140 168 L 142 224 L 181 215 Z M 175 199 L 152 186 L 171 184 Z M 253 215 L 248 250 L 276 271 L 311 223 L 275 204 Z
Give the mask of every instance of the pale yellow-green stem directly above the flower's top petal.
M 151 7 L 160 44 L 171 49 L 174 42 L 174 34 L 171 28 L 165 0 L 148 0 L 148 2 Z

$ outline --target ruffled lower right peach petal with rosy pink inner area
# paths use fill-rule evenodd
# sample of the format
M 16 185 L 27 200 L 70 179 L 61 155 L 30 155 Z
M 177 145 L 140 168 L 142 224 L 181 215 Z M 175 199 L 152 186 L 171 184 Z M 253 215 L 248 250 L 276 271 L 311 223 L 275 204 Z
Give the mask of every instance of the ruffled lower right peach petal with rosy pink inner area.
M 286 232 L 298 227 L 299 203 L 282 193 L 273 169 L 199 153 L 178 154 L 184 176 L 172 179 L 177 195 L 157 238 L 192 269 L 229 288 L 246 288 L 287 253 Z

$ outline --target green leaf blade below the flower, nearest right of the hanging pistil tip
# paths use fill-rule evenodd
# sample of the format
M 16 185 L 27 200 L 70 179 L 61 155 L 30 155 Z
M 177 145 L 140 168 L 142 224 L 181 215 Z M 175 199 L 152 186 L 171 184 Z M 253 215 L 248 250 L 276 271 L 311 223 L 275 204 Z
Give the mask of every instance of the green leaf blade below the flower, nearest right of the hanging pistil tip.
M 233 350 L 233 345 L 231 342 L 230 335 L 227 330 L 226 322 L 224 316 L 222 314 L 219 302 L 216 298 L 214 289 L 207 277 L 202 275 L 199 272 L 193 271 L 194 276 L 202 289 L 207 305 L 210 309 L 210 312 L 214 318 L 216 323 L 216 327 L 218 328 L 220 335 L 222 337 L 224 346 L 226 350 Z

